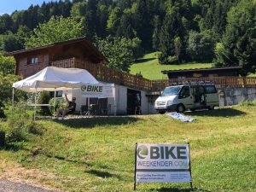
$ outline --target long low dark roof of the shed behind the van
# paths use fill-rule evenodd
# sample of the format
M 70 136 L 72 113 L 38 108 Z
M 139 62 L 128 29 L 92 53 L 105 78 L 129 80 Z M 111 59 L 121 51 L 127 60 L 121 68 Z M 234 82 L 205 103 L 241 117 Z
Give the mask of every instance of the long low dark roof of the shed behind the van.
M 240 70 L 241 66 L 233 67 L 210 67 L 210 68 L 192 68 L 192 69 L 180 69 L 180 70 L 164 70 L 161 73 L 193 73 L 193 72 L 207 72 L 207 71 L 225 71 L 225 70 Z

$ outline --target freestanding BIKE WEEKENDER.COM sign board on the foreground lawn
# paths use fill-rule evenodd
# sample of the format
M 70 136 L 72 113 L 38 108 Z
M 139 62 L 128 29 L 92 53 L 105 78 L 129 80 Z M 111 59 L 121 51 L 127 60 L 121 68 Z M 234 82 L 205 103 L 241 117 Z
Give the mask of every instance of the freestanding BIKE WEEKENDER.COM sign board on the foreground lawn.
M 189 144 L 137 143 L 135 182 L 191 182 Z

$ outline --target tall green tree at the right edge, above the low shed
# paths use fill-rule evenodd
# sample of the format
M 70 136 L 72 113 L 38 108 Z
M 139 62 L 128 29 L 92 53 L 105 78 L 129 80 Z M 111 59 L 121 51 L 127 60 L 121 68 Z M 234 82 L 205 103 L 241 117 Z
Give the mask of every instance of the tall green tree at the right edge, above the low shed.
M 256 3 L 243 0 L 228 13 L 222 44 L 216 48 L 216 66 L 241 66 L 243 73 L 256 70 Z

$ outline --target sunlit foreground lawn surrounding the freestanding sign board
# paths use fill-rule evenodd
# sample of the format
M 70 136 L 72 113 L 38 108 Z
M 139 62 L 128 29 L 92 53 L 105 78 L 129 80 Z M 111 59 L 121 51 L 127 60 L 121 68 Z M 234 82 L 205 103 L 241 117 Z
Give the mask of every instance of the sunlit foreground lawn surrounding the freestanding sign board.
M 255 191 L 255 103 L 166 115 L 40 121 L 42 136 L 0 151 L 2 176 L 67 191 L 132 191 L 135 143 L 190 143 L 195 191 Z M 13 176 L 15 177 L 15 176 Z M 137 191 L 190 191 L 189 183 L 138 183 Z

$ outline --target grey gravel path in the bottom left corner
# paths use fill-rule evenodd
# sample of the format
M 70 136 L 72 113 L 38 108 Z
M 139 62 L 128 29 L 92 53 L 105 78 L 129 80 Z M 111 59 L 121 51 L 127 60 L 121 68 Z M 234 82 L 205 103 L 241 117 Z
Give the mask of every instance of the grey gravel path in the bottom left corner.
M 46 190 L 26 183 L 15 183 L 8 180 L 0 179 L 0 192 L 56 192 Z

